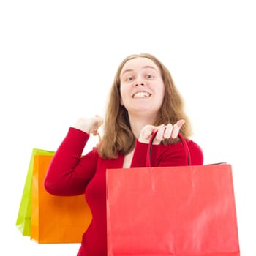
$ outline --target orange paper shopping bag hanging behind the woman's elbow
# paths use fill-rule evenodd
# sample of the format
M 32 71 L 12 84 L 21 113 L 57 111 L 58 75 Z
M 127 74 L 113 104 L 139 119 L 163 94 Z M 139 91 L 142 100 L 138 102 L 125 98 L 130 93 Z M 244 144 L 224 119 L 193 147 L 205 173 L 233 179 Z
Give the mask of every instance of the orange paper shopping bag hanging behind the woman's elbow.
M 31 239 L 39 244 L 80 243 L 91 222 L 91 211 L 84 195 L 55 196 L 45 191 L 43 181 L 51 159 L 34 157 Z

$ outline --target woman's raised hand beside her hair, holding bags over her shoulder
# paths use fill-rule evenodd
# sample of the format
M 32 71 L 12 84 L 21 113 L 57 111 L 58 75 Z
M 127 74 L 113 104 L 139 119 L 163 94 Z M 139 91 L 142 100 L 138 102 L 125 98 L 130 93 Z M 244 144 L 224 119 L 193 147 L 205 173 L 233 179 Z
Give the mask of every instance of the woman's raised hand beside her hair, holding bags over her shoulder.
M 103 118 L 101 116 L 94 116 L 91 118 L 79 118 L 73 127 L 88 134 L 97 135 L 97 130 L 102 124 Z

